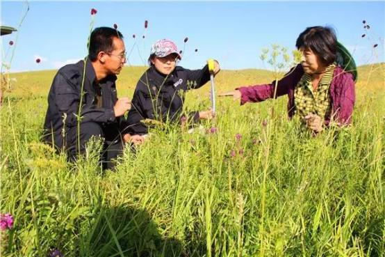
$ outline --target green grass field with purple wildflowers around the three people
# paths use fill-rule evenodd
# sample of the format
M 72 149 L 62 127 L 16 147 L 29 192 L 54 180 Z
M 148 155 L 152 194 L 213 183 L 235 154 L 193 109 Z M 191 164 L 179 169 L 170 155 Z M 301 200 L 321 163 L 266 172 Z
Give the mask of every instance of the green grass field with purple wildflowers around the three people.
M 131 97 L 144 70 L 124 68 L 119 95 Z M 384 63 L 359 67 L 343 130 L 300 132 L 286 97 L 220 98 L 218 118 L 202 123 L 218 132 L 153 131 L 106 173 L 97 143 L 75 164 L 40 143 L 55 73 L 11 74 L 0 107 L 0 210 L 15 218 L 1 256 L 385 256 Z M 273 79 L 223 70 L 215 82 Z M 188 93 L 186 108 L 207 109 L 208 91 Z

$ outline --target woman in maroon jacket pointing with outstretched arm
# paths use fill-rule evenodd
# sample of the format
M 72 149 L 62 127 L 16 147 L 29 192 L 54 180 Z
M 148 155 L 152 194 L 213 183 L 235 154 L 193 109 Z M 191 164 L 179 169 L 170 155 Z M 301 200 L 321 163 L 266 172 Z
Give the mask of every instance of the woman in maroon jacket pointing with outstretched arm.
M 350 54 L 337 42 L 334 32 L 322 26 L 303 31 L 297 38 L 296 47 L 302 52 L 301 65 L 292 68 L 278 81 L 276 92 L 273 81 L 243 86 L 220 96 L 233 96 L 234 100 L 245 104 L 288 95 L 288 116 L 299 115 L 313 132 L 322 131 L 331 120 L 338 125 L 349 124 L 355 102 L 354 79 L 357 78 Z M 346 56 L 350 57 L 347 63 L 354 66 L 353 70 L 346 69 L 344 64 L 347 63 L 343 61 L 343 67 L 337 64 L 341 53 L 345 61 Z

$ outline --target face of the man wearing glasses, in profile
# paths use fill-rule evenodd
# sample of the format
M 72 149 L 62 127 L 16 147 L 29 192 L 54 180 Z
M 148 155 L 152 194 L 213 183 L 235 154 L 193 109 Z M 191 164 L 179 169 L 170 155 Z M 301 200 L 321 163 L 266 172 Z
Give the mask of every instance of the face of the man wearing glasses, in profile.
M 113 51 L 106 53 L 106 61 L 104 63 L 110 74 L 118 75 L 124 63 L 126 63 L 126 47 L 120 38 L 113 38 Z

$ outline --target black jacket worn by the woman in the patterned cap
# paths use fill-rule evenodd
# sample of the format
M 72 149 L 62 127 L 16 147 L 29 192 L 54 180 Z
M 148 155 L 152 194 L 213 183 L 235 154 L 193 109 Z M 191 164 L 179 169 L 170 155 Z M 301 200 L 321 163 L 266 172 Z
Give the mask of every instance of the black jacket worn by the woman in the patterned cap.
M 202 70 L 187 70 L 177 66 L 170 75 L 162 75 L 151 66 L 140 77 L 133 93 L 132 106 L 127 122 L 130 134 L 146 134 L 148 127 L 140 120 L 146 118 L 163 122 L 179 122 L 184 93 L 189 89 L 199 88 L 210 80 L 207 65 Z M 197 122 L 199 112 L 188 114 Z

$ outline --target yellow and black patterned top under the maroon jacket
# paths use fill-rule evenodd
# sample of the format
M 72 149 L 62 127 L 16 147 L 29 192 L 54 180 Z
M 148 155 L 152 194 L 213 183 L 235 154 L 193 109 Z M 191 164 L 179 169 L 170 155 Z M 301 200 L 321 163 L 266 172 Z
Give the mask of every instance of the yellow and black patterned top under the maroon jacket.
M 304 73 L 294 91 L 295 114 L 304 118 L 308 114 L 316 114 L 325 119 L 331 114 L 330 84 L 336 64 L 329 65 L 322 76 L 318 87 L 313 90 L 311 76 Z

